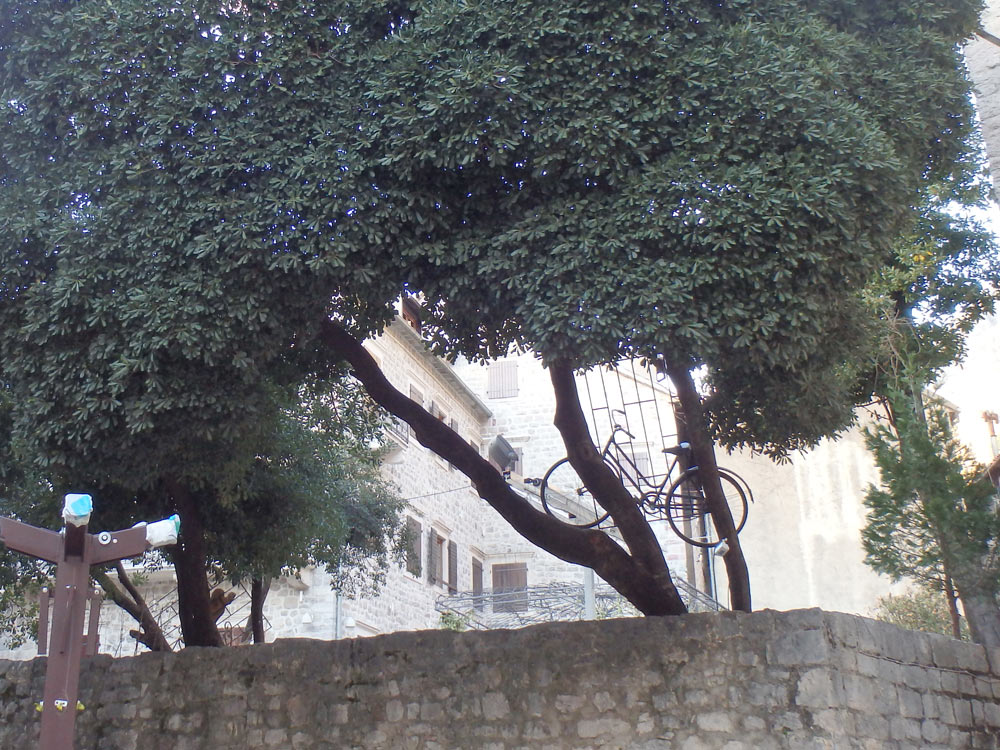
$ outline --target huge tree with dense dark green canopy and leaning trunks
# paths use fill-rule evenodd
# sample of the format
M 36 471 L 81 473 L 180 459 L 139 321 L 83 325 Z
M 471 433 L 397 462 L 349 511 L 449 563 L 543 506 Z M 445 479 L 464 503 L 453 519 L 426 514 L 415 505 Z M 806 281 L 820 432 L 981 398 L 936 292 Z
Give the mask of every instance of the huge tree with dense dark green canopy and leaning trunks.
M 528 539 L 669 614 L 684 605 L 572 377 L 647 357 L 677 385 L 749 609 L 712 438 L 782 455 L 850 421 L 857 292 L 962 148 L 956 45 L 979 9 L 12 1 L 15 433 L 68 476 L 159 482 L 190 513 L 262 384 L 345 358 Z M 404 291 L 439 353 L 543 359 L 570 460 L 623 544 L 533 507 L 388 384 L 360 340 Z

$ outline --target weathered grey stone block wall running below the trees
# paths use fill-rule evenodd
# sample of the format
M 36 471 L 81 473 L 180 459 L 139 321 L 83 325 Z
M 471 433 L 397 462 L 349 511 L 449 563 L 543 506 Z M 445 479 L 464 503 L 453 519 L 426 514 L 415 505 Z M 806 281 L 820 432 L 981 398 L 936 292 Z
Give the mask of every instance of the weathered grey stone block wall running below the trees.
M 0 662 L 29 748 L 44 660 Z M 1000 748 L 1000 650 L 820 610 L 89 660 L 78 750 Z

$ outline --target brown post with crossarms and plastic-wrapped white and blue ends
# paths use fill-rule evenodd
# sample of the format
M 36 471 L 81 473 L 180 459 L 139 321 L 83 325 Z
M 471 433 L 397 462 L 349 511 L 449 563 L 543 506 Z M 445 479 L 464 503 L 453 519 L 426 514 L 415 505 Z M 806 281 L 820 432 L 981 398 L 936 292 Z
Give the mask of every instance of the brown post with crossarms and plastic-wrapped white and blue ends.
M 40 704 L 40 750 L 73 748 L 87 599 L 91 599 L 91 608 L 98 606 L 90 593 L 90 566 L 135 557 L 152 547 L 176 544 L 180 530 L 180 519 L 175 515 L 122 531 L 89 534 L 87 524 L 92 510 L 90 495 L 66 495 L 62 531 L 0 517 L 0 542 L 12 550 L 56 564 L 45 692 Z M 42 615 L 47 616 L 44 607 Z M 88 650 L 94 652 L 97 627 L 93 612 L 91 623 Z M 45 625 L 39 628 L 39 639 L 44 638 Z

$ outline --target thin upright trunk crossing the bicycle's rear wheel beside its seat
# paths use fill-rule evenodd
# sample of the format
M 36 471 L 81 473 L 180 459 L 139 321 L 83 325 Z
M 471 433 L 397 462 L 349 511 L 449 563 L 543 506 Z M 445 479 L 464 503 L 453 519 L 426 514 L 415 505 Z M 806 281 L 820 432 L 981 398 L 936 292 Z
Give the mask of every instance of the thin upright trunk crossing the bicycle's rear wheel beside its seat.
M 691 455 L 698 466 L 698 475 L 705 499 L 708 501 L 712 523 L 715 525 L 719 539 L 725 539 L 729 550 L 723 556 L 726 573 L 729 576 L 729 598 L 733 609 L 744 612 L 751 611 L 750 573 L 747 570 L 746 558 L 740 547 L 739 535 L 733 515 L 726 504 L 722 490 L 722 480 L 719 478 L 719 467 L 715 462 L 715 446 L 708 434 L 705 423 L 705 413 L 701 405 L 701 395 L 695 387 L 694 379 L 686 362 L 678 361 L 664 352 L 664 364 L 667 375 L 670 376 L 677 398 L 686 420 L 688 441 L 691 443 Z M 711 554 L 711 553 L 710 553 Z

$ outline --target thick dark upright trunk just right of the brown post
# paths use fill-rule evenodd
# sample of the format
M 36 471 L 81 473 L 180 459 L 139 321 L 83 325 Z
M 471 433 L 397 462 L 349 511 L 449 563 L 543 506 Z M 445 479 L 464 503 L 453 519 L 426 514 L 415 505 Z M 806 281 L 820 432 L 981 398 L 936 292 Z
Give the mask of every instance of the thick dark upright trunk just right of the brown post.
M 222 646 L 211 614 L 211 592 L 205 565 L 204 531 L 198 504 L 186 487 L 166 483 L 174 509 L 181 517 L 181 534 L 173 549 L 177 574 L 177 610 L 185 646 Z

